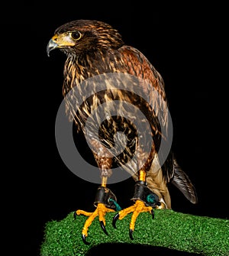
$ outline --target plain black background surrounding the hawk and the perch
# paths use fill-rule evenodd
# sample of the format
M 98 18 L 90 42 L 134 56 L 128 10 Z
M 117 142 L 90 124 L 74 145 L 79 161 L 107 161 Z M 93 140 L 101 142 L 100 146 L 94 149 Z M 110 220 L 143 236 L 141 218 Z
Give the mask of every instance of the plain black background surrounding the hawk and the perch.
M 198 193 L 198 204 L 192 205 L 171 186 L 173 209 L 228 218 L 224 7 L 149 3 L 22 1 L 4 9 L 2 97 L 8 103 L 2 107 L 2 118 L 10 140 L 3 162 L 13 195 L 6 199 L 13 210 L 6 209 L 13 213 L 11 222 L 17 219 L 19 225 L 10 239 L 22 238 L 20 254 L 39 254 L 46 222 L 63 219 L 76 209 L 94 209 L 98 184 L 76 177 L 56 148 L 55 118 L 63 99 L 66 57 L 58 50 L 50 58 L 46 53 L 53 31 L 80 18 L 113 25 L 126 44 L 142 51 L 163 76 L 173 119 L 173 151 Z M 133 180 L 109 187 L 121 206 L 130 205 Z

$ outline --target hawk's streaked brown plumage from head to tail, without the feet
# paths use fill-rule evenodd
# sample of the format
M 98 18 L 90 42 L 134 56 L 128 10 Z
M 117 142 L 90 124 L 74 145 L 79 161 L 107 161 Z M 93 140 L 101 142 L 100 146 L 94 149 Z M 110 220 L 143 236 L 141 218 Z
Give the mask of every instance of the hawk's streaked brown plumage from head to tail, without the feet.
M 92 130 L 97 123 L 100 127 L 100 141 L 92 135 L 89 143 L 92 148 L 97 148 L 102 152 L 102 154 L 97 154 L 93 151 L 101 170 L 102 186 L 106 187 L 107 179 L 112 174 L 112 168 L 121 166 L 131 173 L 134 180 L 144 181 L 144 184 L 159 197 L 163 207 L 171 208 L 167 188 L 169 182 L 174 183 L 192 203 L 196 203 L 195 188 L 189 177 L 176 163 L 173 153 L 169 152 L 166 161 L 160 164 L 158 152 L 161 141 L 166 140 L 162 126 L 168 129 L 168 109 L 163 79 L 147 60 L 147 57 L 134 47 L 125 45 L 121 34 L 102 21 L 78 20 L 63 24 L 56 29 L 55 35 L 50 40 L 47 46 L 48 54 L 55 48 L 60 48 L 66 53 L 63 96 L 66 99 L 66 115 L 69 116 L 69 120 L 76 122 L 78 130 L 85 132 L 85 122 L 93 109 L 102 103 L 114 101 L 128 102 L 136 106 L 146 117 L 138 122 L 143 125 L 144 122 L 150 124 L 150 128 L 147 128 L 146 125 L 145 132 L 149 134 L 150 138 L 153 138 L 153 144 L 150 145 L 150 151 L 147 152 L 144 148 L 148 146 L 149 141 L 144 141 L 144 145 L 140 146 L 133 168 L 133 165 L 130 166 L 127 163 L 133 157 L 137 144 L 139 144 L 136 127 L 134 128 L 133 123 L 137 112 L 125 109 L 124 105 L 120 104 L 118 110 L 122 115 L 111 115 L 103 122 L 98 116 L 92 118 L 89 124 Z M 113 80 L 111 74 L 115 74 Z M 132 79 L 132 76 L 137 79 Z M 93 80 L 93 78 L 95 79 Z M 92 79 L 92 83 L 88 82 L 91 81 L 90 79 Z M 121 87 L 114 88 L 114 83 L 112 83 L 114 79 L 115 84 L 121 84 Z M 96 90 L 99 83 L 106 85 L 106 88 L 100 92 Z M 86 99 L 84 96 L 87 95 L 89 86 L 94 86 L 96 93 Z M 69 93 L 71 90 L 73 93 Z M 79 104 L 76 97 L 78 94 L 84 100 L 76 109 L 76 105 Z M 146 97 L 142 97 L 142 95 Z M 111 113 L 109 108 L 104 111 L 106 115 Z M 107 149 L 114 147 L 114 134 L 117 131 L 126 134 L 127 147 L 121 154 L 114 154 L 113 157 L 110 157 Z M 119 143 L 122 143 L 121 139 Z M 112 208 L 108 205 L 105 206 Z M 105 222 L 104 219 L 101 221 Z M 85 230 L 82 232 L 83 238 L 87 236 L 88 227 L 89 225 L 85 225 Z M 105 228 L 104 225 L 103 228 Z M 133 229 L 132 226 L 131 230 Z

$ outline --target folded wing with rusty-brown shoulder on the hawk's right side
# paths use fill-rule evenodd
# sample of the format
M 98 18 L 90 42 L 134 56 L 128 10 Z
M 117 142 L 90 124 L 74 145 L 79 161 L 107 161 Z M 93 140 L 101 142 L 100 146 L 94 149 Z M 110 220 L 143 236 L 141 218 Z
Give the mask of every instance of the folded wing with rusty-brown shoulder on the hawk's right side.
M 119 49 L 119 52 L 128 68 L 127 72 L 143 79 L 145 82 L 142 84 L 142 90 L 144 95 L 148 97 L 148 111 L 153 117 L 151 118 L 151 128 L 154 131 L 153 141 L 156 144 L 157 162 L 162 166 L 166 160 L 166 155 L 162 155 L 163 152 L 159 152 L 159 149 L 162 140 L 167 143 L 169 136 L 169 110 L 163 78 L 150 61 L 147 60 L 147 57 L 136 48 L 124 46 Z M 162 168 L 162 173 L 163 179 L 168 182 L 173 177 L 174 169 L 171 165 L 167 168 L 168 160 L 166 160 L 165 164 L 166 167 Z

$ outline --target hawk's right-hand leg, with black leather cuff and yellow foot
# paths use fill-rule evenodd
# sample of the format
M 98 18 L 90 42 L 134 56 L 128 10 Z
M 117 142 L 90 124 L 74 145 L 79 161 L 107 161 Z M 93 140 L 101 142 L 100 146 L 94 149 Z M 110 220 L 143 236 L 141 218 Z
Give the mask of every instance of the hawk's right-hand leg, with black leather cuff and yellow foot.
M 134 232 L 134 225 L 140 212 L 150 212 L 154 218 L 153 208 L 160 206 L 159 196 L 147 187 L 146 172 L 144 170 L 140 170 L 139 180 L 135 184 L 134 197 L 132 200 L 135 202 L 133 206 L 123 209 L 114 215 L 113 226 L 116 228 L 115 223 L 118 219 L 123 219 L 128 213 L 133 212 L 129 231 L 130 238 L 133 240 L 134 238 L 132 233 Z

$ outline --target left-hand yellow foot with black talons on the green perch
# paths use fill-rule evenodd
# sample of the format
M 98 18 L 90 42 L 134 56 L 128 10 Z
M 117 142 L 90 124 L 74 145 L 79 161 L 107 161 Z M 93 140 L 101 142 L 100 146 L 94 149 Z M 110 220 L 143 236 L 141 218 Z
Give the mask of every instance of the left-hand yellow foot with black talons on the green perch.
M 95 209 L 95 212 L 85 212 L 85 211 L 82 211 L 82 210 L 77 210 L 74 213 L 75 217 L 76 217 L 76 215 L 80 215 L 80 214 L 85 215 L 85 216 L 89 216 L 89 218 L 85 221 L 85 224 L 82 228 L 82 241 L 86 245 L 89 245 L 89 242 L 85 240 L 85 238 L 88 236 L 89 226 L 92 224 L 92 222 L 93 222 L 93 220 L 95 219 L 96 216 L 98 216 L 98 220 L 100 222 L 102 230 L 105 232 L 106 235 L 108 235 L 108 232 L 105 229 L 105 214 L 107 212 L 114 212 L 114 210 L 107 208 L 102 203 L 98 203 L 98 206 Z

